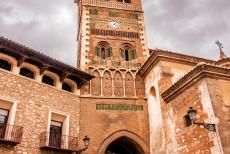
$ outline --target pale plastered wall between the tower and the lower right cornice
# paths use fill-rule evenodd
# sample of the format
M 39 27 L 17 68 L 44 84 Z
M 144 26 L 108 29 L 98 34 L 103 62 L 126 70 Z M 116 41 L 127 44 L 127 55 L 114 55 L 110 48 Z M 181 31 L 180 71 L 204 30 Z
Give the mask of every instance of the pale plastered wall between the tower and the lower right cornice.
M 159 61 L 145 77 L 150 120 L 150 151 L 165 153 L 171 143 L 168 126 L 168 105 L 161 98 L 167 88 L 193 69 L 193 66 L 171 61 Z M 151 92 L 154 89 L 154 94 Z

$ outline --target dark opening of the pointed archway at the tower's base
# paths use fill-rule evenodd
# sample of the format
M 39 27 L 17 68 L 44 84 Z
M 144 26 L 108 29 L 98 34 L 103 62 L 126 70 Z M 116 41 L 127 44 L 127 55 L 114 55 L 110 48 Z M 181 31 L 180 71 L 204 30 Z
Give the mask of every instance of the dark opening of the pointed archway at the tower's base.
M 135 141 L 121 137 L 107 147 L 105 154 L 144 154 L 144 151 Z

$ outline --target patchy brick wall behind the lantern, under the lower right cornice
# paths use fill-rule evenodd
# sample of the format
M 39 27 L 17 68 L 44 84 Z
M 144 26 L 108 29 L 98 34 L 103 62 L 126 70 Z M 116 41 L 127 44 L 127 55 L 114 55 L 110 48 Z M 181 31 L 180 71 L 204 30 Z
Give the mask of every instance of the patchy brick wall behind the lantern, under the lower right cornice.
M 189 107 L 197 110 L 196 122 L 215 123 L 209 91 L 205 80 L 193 84 L 180 95 L 168 102 L 168 130 L 171 136 L 167 153 L 222 153 L 218 130 L 209 131 L 201 125 L 185 125 L 184 116 Z M 218 124 L 217 124 L 218 126 Z

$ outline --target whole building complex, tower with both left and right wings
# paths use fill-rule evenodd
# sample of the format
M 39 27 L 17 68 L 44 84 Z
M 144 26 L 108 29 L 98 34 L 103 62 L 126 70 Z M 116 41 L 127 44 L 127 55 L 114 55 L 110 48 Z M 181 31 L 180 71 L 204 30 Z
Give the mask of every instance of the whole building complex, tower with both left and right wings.
M 0 37 L 0 153 L 230 153 L 223 51 L 148 49 L 141 0 L 75 3 L 79 69 Z

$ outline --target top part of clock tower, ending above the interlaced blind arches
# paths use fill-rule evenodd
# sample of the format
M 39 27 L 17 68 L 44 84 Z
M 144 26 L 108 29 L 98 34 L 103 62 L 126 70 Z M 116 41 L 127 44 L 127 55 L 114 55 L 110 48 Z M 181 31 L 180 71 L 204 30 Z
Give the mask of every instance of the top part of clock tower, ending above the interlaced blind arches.
M 138 69 L 148 58 L 141 0 L 76 0 L 77 67 Z

